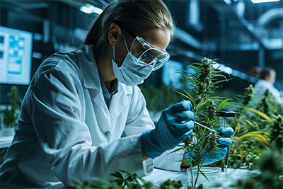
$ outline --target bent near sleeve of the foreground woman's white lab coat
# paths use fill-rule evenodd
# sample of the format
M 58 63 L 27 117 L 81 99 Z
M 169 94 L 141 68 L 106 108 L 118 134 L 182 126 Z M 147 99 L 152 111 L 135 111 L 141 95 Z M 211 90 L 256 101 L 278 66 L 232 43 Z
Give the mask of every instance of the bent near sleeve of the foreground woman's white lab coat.
M 119 170 L 144 176 L 139 134 L 91 146 L 88 126 L 81 122 L 76 78 L 50 69 L 30 86 L 30 116 L 52 173 L 64 185 L 94 176 L 112 180 L 110 173 Z

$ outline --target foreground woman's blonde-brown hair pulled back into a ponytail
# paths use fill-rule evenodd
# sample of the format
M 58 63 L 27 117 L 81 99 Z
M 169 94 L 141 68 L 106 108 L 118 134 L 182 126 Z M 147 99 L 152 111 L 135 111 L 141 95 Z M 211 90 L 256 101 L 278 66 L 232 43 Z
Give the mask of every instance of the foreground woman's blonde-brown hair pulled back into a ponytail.
M 109 4 L 88 31 L 83 45 L 108 46 L 108 31 L 115 22 L 131 33 L 154 28 L 169 30 L 173 38 L 173 19 L 166 4 L 162 0 L 118 0 Z

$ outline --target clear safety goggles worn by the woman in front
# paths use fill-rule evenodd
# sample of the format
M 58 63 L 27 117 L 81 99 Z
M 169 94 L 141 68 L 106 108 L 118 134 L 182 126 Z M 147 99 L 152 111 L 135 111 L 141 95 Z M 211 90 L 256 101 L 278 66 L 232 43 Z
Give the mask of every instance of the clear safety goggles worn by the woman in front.
M 134 38 L 130 52 L 137 58 L 138 63 L 144 62 L 146 64 L 150 64 L 154 67 L 153 70 L 163 67 L 170 57 L 166 50 L 155 47 L 138 36 Z

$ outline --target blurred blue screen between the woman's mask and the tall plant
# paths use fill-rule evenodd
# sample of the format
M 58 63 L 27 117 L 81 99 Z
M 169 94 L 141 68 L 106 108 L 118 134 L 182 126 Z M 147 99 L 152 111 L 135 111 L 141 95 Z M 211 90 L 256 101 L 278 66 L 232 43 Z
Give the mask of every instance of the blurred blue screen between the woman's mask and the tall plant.
M 163 66 L 162 69 L 162 81 L 166 85 L 173 85 L 174 88 L 181 88 L 180 76 L 181 74 L 174 74 L 177 70 L 182 70 L 183 64 L 169 59 L 168 62 Z

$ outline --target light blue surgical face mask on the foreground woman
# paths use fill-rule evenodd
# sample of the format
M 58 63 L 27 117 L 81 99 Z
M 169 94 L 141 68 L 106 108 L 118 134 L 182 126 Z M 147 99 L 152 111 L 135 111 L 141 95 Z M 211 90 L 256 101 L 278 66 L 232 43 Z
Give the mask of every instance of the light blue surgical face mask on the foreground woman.
M 144 83 L 144 79 L 149 77 L 154 67 L 151 64 L 138 61 L 137 57 L 134 57 L 134 55 L 129 52 L 124 35 L 123 38 L 128 54 L 122 62 L 122 66 L 118 67 L 115 62 L 115 46 L 113 45 L 112 67 L 114 74 L 118 81 L 127 86 L 142 84 Z

